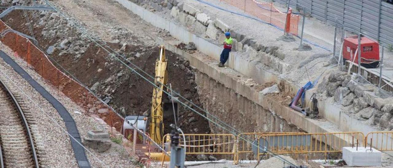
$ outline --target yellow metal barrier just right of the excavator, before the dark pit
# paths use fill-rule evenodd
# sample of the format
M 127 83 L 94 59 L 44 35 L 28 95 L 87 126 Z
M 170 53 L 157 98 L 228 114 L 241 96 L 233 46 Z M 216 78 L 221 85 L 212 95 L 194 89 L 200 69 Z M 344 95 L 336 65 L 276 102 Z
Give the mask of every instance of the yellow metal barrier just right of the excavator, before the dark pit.
M 236 137 L 232 134 L 184 134 L 184 136 L 186 154 L 231 154 L 235 158 Z M 179 145 L 184 147 L 182 135 L 180 137 Z M 163 140 L 170 142 L 167 141 L 169 139 L 169 134 L 164 135 Z M 163 146 L 165 146 L 164 142 Z

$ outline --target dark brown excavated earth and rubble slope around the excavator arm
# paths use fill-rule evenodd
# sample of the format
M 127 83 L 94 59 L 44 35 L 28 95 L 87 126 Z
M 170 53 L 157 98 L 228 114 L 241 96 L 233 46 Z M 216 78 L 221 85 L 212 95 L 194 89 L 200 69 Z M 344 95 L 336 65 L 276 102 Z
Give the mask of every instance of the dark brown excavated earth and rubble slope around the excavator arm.
M 37 15 L 43 16 L 39 12 L 29 13 L 32 23 L 39 21 L 40 17 L 33 17 Z M 23 11 L 13 11 L 3 18 L 3 21 L 12 29 L 27 35 L 31 34 L 28 26 L 25 25 L 26 18 Z M 59 22 L 60 24 L 66 23 L 63 20 Z M 59 24 L 54 22 L 52 26 L 59 27 Z M 66 70 L 76 79 L 79 79 L 80 82 L 92 89 L 98 97 L 123 116 L 147 115 L 150 113 L 153 89 L 151 83 L 142 79 L 136 73 L 132 73 L 124 64 L 111 57 L 107 51 L 94 42 L 81 39 L 81 33 L 72 27 L 69 28 L 70 30 L 67 33 L 45 36 L 45 32 L 53 31 L 53 27 L 45 27 L 44 25 L 33 27 L 35 38 L 43 51 L 46 51 L 50 46 L 56 46 L 57 43 L 63 42 L 64 39 L 69 39 L 69 47 L 84 49 L 84 51 L 79 50 L 77 52 L 68 52 L 65 48 L 55 49 L 49 56 L 61 67 L 59 64 L 53 63 L 55 66 L 59 69 L 64 68 L 63 71 Z M 132 35 L 129 36 L 132 38 Z M 132 64 L 154 77 L 155 61 L 160 55 L 159 47 L 146 46 L 143 45 L 142 41 L 135 39 L 133 43 L 135 45 L 127 44 L 125 48 L 118 40 L 107 42 L 107 44 L 112 49 L 119 51 L 120 54 L 124 54 Z M 168 84 L 171 83 L 174 91 L 203 108 L 196 90 L 195 70 L 189 66 L 187 60 L 171 51 L 166 51 L 166 57 L 168 59 Z M 127 66 L 135 68 L 132 64 L 127 63 Z M 147 77 L 142 71 L 138 69 L 136 71 Z M 147 78 L 153 81 L 150 77 Z M 180 126 L 185 132 L 210 133 L 208 121 L 204 117 L 195 114 L 185 106 L 179 106 L 179 111 Z M 172 123 L 174 123 L 173 117 L 164 118 L 164 133 L 170 132 L 169 124 Z

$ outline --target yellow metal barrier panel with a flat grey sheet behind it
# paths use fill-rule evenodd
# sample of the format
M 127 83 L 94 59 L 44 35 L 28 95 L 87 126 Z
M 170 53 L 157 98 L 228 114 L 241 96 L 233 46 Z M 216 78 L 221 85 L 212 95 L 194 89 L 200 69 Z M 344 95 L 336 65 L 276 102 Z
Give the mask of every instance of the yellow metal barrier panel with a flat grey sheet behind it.
M 276 154 L 284 153 L 324 153 L 326 157 L 325 133 L 285 133 L 260 135 L 258 141 L 257 156 L 264 155 L 263 149 Z

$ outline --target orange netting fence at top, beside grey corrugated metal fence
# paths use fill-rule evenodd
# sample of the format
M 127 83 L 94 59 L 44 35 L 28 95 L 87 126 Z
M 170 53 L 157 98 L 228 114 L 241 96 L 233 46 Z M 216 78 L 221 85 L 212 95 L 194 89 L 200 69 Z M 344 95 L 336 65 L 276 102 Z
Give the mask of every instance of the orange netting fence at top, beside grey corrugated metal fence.
M 289 29 L 290 34 L 298 35 L 299 15 L 290 15 L 285 27 L 286 13 L 279 11 L 272 2 L 256 2 L 255 0 L 222 0 L 230 5 L 242 9 L 245 13 L 256 16 L 264 22 L 281 29 Z

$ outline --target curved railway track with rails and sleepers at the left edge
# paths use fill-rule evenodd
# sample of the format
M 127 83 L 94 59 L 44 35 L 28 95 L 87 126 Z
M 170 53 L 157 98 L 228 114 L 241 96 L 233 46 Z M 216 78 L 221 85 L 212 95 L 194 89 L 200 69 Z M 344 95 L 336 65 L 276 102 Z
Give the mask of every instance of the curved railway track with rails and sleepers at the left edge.
M 32 116 L 29 110 L 22 110 L 23 104 L 20 96 L 13 95 L 0 79 L 1 168 L 40 167 L 36 149 L 42 148 L 42 142 L 35 142 L 33 132 L 37 132 L 37 127 L 35 121 L 28 121 Z

